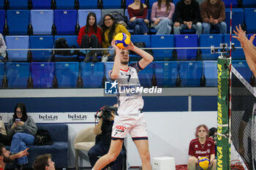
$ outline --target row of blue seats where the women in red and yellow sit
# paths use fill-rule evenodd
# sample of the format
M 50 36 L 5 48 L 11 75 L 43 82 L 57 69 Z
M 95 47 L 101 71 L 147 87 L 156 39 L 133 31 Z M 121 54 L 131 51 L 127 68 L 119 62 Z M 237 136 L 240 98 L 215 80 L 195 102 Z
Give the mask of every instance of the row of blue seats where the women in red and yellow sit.
M 8 9 L 0 10 L 0 33 L 10 35 L 78 34 L 79 28 L 86 25 L 89 12 L 95 12 L 97 21 L 113 11 L 121 12 L 129 19 L 127 9 Z M 245 23 L 247 33 L 256 32 L 256 8 L 233 9 L 233 30 Z M 148 10 L 150 20 L 151 10 Z M 7 22 L 5 22 L 7 21 Z M 230 9 L 226 9 L 227 28 L 230 27 Z M 7 25 L 5 25 L 7 23 Z M 53 27 L 56 29 L 53 33 Z M 7 33 L 8 29 L 8 33 Z M 29 30 L 32 29 L 33 31 Z M 229 33 L 230 29 L 227 29 Z

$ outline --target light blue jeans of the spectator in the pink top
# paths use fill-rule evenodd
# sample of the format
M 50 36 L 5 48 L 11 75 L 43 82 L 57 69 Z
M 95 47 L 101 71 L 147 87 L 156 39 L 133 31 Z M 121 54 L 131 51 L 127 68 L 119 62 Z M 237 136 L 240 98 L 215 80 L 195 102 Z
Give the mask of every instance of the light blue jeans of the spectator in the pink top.
M 172 25 L 173 25 L 173 20 L 170 20 L 168 18 L 163 18 L 162 20 L 159 21 L 157 26 L 154 26 L 154 29 L 157 30 L 157 35 L 170 34 L 170 32 L 172 31 Z

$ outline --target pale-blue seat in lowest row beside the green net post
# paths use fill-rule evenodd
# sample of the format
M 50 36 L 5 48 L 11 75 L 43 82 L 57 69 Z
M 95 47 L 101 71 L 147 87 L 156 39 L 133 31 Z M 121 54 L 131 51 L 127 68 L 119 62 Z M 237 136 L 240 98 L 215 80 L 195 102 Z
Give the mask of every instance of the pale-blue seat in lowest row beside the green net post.
M 218 63 L 217 61 L 203 61 L 203 74 L 206 77 L 207 87 L 217 87 L 218 85 Z

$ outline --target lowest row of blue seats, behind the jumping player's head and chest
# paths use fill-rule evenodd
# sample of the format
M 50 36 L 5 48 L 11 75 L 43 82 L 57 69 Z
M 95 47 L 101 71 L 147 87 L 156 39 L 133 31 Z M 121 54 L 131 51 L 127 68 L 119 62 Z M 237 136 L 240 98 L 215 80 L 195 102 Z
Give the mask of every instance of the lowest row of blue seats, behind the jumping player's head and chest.
M 233 66 L 249 82 L 252 72 L 246 61 L 233 61 Z M 112 68 L 113 62 L 0 63 L 0 87 L 102 88 Z M 144 87 L 153 85 L 154 76 L 158 87 L 200 87 L 203 75 L 206 87 L 217 87 L 217 61 L 155 61 L 138 74 Z

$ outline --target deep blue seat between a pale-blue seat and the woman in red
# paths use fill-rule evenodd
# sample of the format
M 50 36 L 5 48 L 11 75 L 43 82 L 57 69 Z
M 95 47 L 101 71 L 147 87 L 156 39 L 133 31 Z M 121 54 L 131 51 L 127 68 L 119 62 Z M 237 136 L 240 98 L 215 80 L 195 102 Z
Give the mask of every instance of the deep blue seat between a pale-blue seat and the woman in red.
M 77 10 L 75 9 L 56 9 L 54 10 L 54 23 L 56 25 L 56 33 L 75 34 L 75 26 L 77 24 Z

